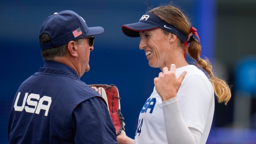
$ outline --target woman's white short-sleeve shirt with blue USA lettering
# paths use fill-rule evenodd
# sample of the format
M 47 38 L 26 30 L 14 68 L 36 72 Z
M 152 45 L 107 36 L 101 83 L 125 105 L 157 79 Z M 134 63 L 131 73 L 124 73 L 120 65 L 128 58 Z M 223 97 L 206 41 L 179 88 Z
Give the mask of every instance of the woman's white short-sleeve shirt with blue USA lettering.
M 199 130 L 200 144 L 205 144 L 214 113 L 214 90 L 211 82 L 194 65 L 176 69 L 177 78 L 187 71 L 177 93 L 180 111 L 187 127 Z M 162 100 L 155 87 L 140 111 L 135 144 L 168 144 Z M 167 122 L 171 123 L 171 121 Z

